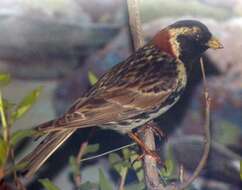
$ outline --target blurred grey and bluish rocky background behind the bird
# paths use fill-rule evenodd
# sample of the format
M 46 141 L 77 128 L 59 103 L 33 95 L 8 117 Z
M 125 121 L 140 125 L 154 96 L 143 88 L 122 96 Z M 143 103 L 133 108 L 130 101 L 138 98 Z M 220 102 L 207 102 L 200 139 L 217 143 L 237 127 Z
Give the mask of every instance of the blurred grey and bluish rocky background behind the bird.
M 212 98 L 212 135 L 215 142 L 203 175 L 195 189 L 240 189 L 239 160 L 242 155 L 242 1 L 241 0 L 141 0 L 145 38 L 174 21 L 193 18 L 205 23 L 224 49 L 209 50 L 205 57 Z M 30 128 L 61 115 L 91 87 L 88 72 L 97 77 L 132 52 L 125 0 L 1 0 L 0 72 L 13 82 L 4 96 L 18 102 L 27 92 L 43 86 L 34 108 L 16 124 Z M 203 134 L 203 87 L 199 64 L 184 97 L 157 122 L 168 134 L 162 146 L 171 152 L 189 175 L 201 157 Z M 68 155 L 76 155 L 89 130 L 75 134 L 39 172 L 61 189 L 73 189 Z M 114 141 L 115 139 L 115 141 Z M 101 152 L 127 144 L 129 138 L 97 130 L 91 143 Z M 35 143 L 24 142 L 19 155 Z M 168 150 L 168 151 L 167 151 Z M 82 180 L 96 181 L 98 168 L 109 173 L 101 158 L 84 165 Z M 117 184 L 113 179 L 114 186 Z M 132 177 L 128 180 L 132 181 Z M 32 182 L 30 189 L 38 189 Z

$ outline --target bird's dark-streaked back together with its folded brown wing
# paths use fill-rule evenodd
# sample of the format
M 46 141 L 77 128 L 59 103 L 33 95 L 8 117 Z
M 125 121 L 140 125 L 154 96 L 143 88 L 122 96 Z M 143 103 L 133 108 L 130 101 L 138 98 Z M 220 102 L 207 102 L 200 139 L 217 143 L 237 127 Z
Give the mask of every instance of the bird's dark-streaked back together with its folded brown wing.
M 140 55 L 138 51 L 114 67 L 84 100 L 77 101 L 52 125 L 39 129 L 56 131 L 102 125 L 129 119 L 161 105 L 177 86 L 176 63 L 147 50 L 150 54 L 143 50 L 144 55 Z

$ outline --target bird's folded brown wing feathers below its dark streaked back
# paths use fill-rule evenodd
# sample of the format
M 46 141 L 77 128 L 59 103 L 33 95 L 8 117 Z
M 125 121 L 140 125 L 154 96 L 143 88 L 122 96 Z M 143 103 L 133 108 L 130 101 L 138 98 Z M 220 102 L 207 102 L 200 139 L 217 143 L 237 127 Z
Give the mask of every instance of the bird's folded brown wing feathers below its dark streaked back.
M 74 112 L 67 112 L 52 125 L 39 128 L 56 131 L 68 128 L 96 126 L 113 121 L 122 121 L 141 113 L 151 111 L 164 101 L 170 92 L 160 95 L 143 95 L 130 90 L 106 92 L 101 97 L 91 97 Z

